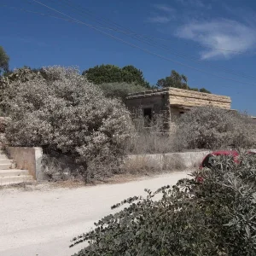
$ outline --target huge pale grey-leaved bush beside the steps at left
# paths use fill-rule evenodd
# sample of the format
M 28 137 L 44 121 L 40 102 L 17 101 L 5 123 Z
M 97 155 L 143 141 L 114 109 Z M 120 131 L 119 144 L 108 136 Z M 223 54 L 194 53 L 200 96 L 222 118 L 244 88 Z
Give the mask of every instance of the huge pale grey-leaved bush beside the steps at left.
M 74 68 L 45 67 L 28 72 L 26 78 L 15 79 L 5 89 L 9 144 L 65 155 L 86 181 L 110 175 L 102 165 L 122 160 L 123 144 L 133 131 L 123 104 L 107 99 Z

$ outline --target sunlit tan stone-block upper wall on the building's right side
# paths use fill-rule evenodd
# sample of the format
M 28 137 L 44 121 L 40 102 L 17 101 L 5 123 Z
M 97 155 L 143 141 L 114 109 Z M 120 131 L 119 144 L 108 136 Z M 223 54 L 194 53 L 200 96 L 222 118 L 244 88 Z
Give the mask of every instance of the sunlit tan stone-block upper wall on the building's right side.
M 231 99 L 229 96 L 218 96 L 193 90 L 170 88 L 170 104 L 172 106 L 200 107 L 212 106 L 230 109 Z

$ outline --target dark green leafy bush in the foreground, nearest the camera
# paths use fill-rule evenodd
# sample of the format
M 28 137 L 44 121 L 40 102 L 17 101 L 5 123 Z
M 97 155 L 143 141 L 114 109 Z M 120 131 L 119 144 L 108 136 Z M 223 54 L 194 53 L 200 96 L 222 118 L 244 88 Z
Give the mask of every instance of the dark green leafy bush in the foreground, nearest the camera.
M 113 206 L 126 205 L 98 221 L 95 230 L 74 238 L 71 246 L 89 242 L 77 256 L 253 256 L 255 170 L 255 156 L 243 156 L 240 165 L 218 159 L 212 170 L 195 172 L 190 180 L 154 193 L 146 189 L 146 197 L 134 196 Z M 202 183 L 196 182 L 198 175 Z

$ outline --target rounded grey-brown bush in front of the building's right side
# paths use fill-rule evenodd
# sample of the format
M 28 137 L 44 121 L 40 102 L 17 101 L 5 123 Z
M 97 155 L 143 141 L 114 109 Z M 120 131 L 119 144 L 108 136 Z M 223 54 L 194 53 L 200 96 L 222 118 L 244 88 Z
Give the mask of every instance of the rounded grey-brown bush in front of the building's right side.
M 183 148 L 251 148 L 256 125 L 245 114 L 223 108 L 192 108 L 177 122 L 176 144 Z

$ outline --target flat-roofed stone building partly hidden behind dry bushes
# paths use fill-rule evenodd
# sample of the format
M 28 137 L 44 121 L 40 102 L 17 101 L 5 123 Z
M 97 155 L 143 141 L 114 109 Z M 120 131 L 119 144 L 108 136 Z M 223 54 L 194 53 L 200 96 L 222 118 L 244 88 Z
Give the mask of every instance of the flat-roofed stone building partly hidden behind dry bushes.
M 141 111 L 144 119 L 148 121 L 153 119 L 154 114 L 163 114 L 166 128 L 171 128 L 183 113 L 193 107 L 212 106 L 230 109 L 231 99 L 229 96 L 194 90 L 165 88 L 129 94 L 125 104 L 131 113 Z M 145 125 L 147 126 L 148 123 L 145 122 Z

